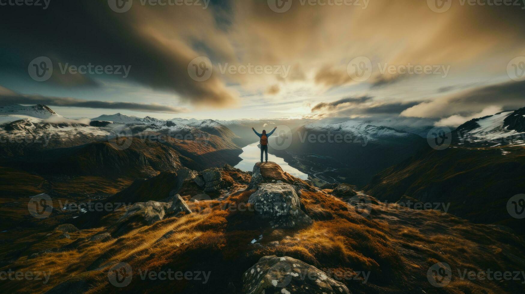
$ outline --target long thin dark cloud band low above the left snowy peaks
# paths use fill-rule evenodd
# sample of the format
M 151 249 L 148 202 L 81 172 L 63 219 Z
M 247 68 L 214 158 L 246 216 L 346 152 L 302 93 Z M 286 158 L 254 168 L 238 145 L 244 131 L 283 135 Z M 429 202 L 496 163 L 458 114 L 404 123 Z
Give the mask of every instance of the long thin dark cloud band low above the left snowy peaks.
M 82 100 L 70 97 L 48 97 L 40 95 L 19 95 L 16 93 L 0 93 L 0 105 L 9 104 L 46 104 L 49 106 L 69 106 L 102 109 L 127 109 L 141 112 L 181 113 L 187 110 L 180 107 L 161 104 L 145 104 L 134 102 L 109 102 L 96 100 Z

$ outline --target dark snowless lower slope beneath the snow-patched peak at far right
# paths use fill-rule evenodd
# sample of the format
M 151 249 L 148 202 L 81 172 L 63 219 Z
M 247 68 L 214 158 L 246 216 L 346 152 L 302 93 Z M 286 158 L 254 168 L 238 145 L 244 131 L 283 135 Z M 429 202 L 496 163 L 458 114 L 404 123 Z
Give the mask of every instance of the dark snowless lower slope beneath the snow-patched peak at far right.
M 523 146 L 421 151 L 376 174 L 364 187 L 381 201 L 403 195 L 424 203 L 449 203 L 448 213 L 474 223 L 502 224 L 525 233 L 507 211 L 510 197 L 525 190 Z

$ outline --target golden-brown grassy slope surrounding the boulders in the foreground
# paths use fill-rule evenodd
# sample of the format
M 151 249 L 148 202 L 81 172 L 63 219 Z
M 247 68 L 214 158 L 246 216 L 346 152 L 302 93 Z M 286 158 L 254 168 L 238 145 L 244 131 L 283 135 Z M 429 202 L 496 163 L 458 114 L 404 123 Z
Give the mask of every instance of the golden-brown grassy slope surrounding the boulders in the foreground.
M 268 173 L 271 174 L 271 173 Z M 281 175 L 278 175 L 282 178 Z M 231 178 L 238 178 L 232 175 Z M 245 176 L 246 177 L 246 176 Z M 245 178 L 246 179 L 246 178 Z M 107 216 L 102 227 L 71 233 L 58 239 L 57 233 L 35 234 L 16 240 L 24 244 L 38 240 L 24 254 L 41 248 L 62 248 L 34 259 L 22 256 L 3 267 L 16 270 L 46 270 L 53 275 L 47 285 L 40 282 L 9 281 L 7 292 L 40 292 L 65 282 L 70 291 L 88 292 L 170 292 L 230 293 L 232 282 L 241 288 L 241 275 L 265 255 L 291 256 L 328 270 L 370 271 L 370 280 L 343 280 L 354 293 L 414 292 L 482 293 L 516 292 L 518 281 L 461 281 L 457 273 L 445 288 L 434 288 L 426 272 L 436 262 L 473 270 L 521 270 L 525 266 L 523 240 L 484 225 L 468 223 L 437 211 L 414 211 L 394 204 L 372 205 L 369 217 L 362 217 L 330 190 L 302 190 L 301 201 L 314 219 L 311 227 L 275 232 L 253 212 L 223 210 L 226 204 L 245 203 L 254 191 L 237 192 L 225 201 L 188 203 L 192 214 L 167 218 L 149 226 L 137 226 L 128 233 L 103 243 L 89 238 L 111 230 L 123 211 Z M 195 193 L 186 186 L 181 195 L 187 200 Z M 54 235 L 53 235 L 54 234 Z M 250 240 L 262 235 L 261 245 Z M 279 243 L 270 243 L 278 240 Z M 128 262 L 134 269 L 132 282 L 125 288 L 108 282 L 109 267 Z M 138 270 L 211 271 L 210 280 L 143 281 Z

